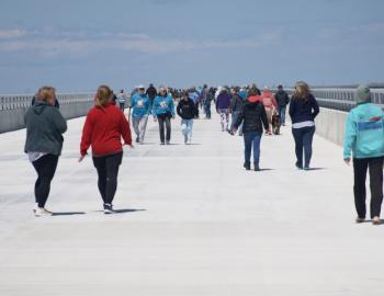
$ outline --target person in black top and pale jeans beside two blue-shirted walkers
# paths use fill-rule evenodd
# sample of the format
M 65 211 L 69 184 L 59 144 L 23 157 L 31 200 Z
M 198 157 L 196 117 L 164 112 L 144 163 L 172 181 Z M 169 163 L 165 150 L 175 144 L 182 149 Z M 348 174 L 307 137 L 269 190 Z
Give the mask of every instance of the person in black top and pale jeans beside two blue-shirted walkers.
M 177 107 L 178 115 L 181 117 L 181 132 L 184 135 L 184 144 L 192 141 L 193 118 L 196 114 L 194 102 L 189 99 L 188 92 L 183 92 Z

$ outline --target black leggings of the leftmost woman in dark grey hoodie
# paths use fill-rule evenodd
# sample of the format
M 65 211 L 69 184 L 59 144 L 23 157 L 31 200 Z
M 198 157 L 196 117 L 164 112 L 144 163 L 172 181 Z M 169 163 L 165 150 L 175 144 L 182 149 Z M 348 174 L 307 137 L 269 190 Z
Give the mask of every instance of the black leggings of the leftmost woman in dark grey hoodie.
M 35 201 L 38 207 L 44 207 L 49 195 L 50 182 L 54 179 L 58 162 L 58 156 L 46 155 L 32 164 L 37 172 L 37 180 L 35 183 Z

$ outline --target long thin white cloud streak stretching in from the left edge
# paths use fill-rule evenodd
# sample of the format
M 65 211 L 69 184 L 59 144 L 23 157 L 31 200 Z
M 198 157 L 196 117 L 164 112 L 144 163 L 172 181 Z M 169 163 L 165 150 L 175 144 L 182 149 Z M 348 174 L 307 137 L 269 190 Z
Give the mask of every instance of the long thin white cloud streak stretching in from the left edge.
M 165 39 L 151 38 L 146 34 L 100 33 L 99 38 L 69 37 L 66 32 L 63 37 L 35 36 L 32 39 L 0 41 L 0 52 L 35 50 L 42 55 L 84 55 L 104 49 L 165 54 L 195 49 L 225 48 L 258 48 L 279 39 L 276 34 L 266 34 L 258 38 L 230 41 L 196 41 L 196 39 Z M 82 34 L 81 34 L 82 35 Z M 66 37 L 64 37 L 66 36 Z M 36 38 L 37 37 L 37 38 Z

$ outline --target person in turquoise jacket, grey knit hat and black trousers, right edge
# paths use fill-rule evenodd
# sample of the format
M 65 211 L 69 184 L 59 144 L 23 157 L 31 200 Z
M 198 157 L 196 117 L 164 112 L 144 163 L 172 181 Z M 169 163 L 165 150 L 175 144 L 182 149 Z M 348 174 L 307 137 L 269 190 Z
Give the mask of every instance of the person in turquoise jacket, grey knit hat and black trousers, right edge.
M 357 106 L 351 110 L 346 123 L 343 159 L 350 164 L 352 153 L 357 223 L 365 220 L 365 179 L 369 169 L 371 218 L 374 225 L 379 225 L 383 202 L 384 112 L 371 103 L 371 91 L 368 86 L 358 88 L 355 101 Z

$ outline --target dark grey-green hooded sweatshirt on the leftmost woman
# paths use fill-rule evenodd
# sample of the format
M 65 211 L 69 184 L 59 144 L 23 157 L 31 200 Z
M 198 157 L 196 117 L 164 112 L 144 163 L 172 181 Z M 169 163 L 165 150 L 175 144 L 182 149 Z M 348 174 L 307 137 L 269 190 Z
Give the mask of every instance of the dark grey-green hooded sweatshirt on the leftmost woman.
M 36 101 L 25 113 L 26 139 L 24 151 L 59 156 L 67 122 L 57 107 Z

